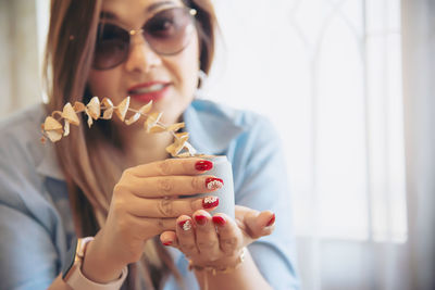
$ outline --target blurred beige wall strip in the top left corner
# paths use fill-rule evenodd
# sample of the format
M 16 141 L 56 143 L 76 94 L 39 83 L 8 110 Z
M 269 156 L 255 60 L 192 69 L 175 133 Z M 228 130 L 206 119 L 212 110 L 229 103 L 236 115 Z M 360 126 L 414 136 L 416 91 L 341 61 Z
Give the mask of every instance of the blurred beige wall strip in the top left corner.
M 0 0 L 0 117 L 41 100 L 35 0 Z

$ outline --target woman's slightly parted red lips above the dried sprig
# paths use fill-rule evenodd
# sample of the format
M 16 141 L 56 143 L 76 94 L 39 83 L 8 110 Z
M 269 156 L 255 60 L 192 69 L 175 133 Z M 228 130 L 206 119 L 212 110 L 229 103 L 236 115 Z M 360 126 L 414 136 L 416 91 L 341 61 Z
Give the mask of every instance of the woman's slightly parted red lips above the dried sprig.
M 128 89 L 128 94 L 133 99 L 140 102 L 158 101 L 165 96 L 169 87 L 170 83 L 163 83 L 163 81 L 144 83 L 130 87 Z

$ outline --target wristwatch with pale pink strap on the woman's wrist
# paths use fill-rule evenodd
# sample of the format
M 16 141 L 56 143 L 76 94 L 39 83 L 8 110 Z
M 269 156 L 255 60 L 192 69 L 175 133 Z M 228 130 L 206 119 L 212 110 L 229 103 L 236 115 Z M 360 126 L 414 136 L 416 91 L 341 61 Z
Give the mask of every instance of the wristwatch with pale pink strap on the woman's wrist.
M 98 283 L 89 280 L 82 273 L 82 262 L 85 256 L 86 247 L 94 237 L 74 238 L 70 251 L 66 254 L 66 263 L 62 269 L 62 279 L 73 289 L 86 290 L 119 290 L 127 277 L 127 267 L 122 269 L 122 275 L 109 283 Z

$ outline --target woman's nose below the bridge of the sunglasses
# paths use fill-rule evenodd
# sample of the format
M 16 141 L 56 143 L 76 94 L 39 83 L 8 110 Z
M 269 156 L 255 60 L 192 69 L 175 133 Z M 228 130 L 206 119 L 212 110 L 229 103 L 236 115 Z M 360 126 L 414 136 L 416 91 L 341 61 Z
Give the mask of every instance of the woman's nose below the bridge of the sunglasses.
M 125 67 L 128 72 L 148 73 L 152 67 L 161 64 L 161 58 L 157 54 L 141 34 L 132 36 L 130 51 Z

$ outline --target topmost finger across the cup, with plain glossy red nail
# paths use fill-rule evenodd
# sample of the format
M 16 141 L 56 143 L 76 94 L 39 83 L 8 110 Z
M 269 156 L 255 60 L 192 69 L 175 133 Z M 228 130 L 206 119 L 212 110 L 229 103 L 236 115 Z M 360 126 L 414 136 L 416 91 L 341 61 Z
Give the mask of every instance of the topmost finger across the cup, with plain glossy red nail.
M 203 159 L 167 159 L 128 168 L 127 174 L 136 177 L 198 175 L 210 171 L 213 162 Z

